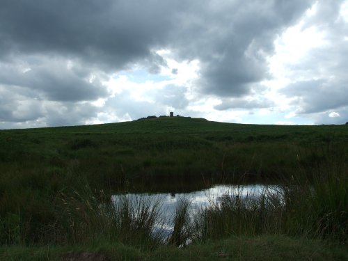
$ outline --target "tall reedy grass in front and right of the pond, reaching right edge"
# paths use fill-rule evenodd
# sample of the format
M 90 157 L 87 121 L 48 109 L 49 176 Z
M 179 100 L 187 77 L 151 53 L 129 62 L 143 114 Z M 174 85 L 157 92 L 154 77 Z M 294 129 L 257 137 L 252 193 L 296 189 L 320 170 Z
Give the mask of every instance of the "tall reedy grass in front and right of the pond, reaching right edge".
M 200 212 L 195 228 L 200 239 L 286 234 L 347 244 L 347 164 L 331 162 L 296 177 L 258 198 L 221 197 Z

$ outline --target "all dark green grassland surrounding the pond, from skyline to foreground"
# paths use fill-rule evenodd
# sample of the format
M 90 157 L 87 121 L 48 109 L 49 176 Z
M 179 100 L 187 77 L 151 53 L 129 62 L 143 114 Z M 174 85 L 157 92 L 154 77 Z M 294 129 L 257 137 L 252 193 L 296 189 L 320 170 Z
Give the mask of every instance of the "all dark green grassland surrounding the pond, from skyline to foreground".
M 346 125 L 175 117 L 0 131 L 0 259 L 54 260 L 85 249 L 116 260 L 345 260 L 347 158 Z M 191 191 L 251 177 L 282 189 L 226 197 L 194 220 L 183 201 L 170 237 L 152 233 L 158 207 L 109 200 L 113 191 L 168 192 L 172 180 L 180 181 L 175 191 Z M 193 244 L 175 248 L 187 240 Z M 250 257 L 246 245 L 260 256 Z

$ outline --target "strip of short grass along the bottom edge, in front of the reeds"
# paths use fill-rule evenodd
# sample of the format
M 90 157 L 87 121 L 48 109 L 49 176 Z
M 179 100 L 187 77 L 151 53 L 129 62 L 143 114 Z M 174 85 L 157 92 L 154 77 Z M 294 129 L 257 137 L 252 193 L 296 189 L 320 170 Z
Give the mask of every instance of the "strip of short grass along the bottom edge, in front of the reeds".
M 345 248 L 317 240 L 284 235 L 230 237 L 193 244 L 187 248 L 161 246 L 143 252 L 124 244 L 97 246 L 0 247 L 1 260 L 68 260 L 93 256 L 97 260 L 347 260 Z M 78 259 L 75 259 L 78 260 Z M 87 259 L 85 259 L 87 260 Z

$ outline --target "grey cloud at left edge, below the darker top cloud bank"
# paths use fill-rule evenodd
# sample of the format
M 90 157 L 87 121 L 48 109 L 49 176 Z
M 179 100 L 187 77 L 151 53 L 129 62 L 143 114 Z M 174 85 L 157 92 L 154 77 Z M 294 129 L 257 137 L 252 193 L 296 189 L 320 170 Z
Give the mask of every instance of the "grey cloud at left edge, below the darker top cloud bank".
M 72 66 L 61 58 L 19 57 L 12 63 L 0 63 L 0 84 L 20 86 L 22 93 L 42 100 L 96 100 L 106 95 L 97 72 L 81 65 Z M 24 67 L 24 65 L 26 67 Z M 30 93 L 30 94 L 29 94 Z

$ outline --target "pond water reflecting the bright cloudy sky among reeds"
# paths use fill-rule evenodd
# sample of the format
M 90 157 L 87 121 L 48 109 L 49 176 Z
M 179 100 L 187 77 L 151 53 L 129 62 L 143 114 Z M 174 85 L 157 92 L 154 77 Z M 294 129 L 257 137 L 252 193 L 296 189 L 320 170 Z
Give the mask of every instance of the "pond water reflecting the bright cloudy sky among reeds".
M 188 200 L 189 216 L 198 214 L 202 209 L 212 207 L 225 197 L 239 197 L 239 198 L 258 198 L 261 195 L 267 196 L 269 194 L 277 193 L 279 187 L 276 185 L 266 184 L 215 184 L 208 189 L 201 189 L 189 193 L 119 193 L 112 196 L 113 202 L 116 202 L 120 197 L 126 197 L 129 202 L 135 203 L 139 200 L 145 202 L 160 203 L 161 223 L 157 224 L 157 232 L 162 232 L 165 235 L 171 235 L 173 232 L 173 217 L 175 216 L 175 209 L 182 200 Z

